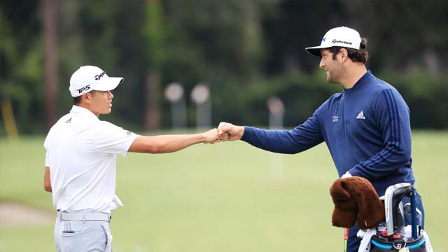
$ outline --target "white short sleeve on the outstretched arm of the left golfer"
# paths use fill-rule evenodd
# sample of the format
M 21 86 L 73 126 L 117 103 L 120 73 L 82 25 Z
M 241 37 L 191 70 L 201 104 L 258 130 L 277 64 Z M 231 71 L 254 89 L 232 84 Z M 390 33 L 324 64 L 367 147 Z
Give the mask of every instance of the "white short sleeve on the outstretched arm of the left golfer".
M 127 155 L 127 151 L 138 135 L 108 122 L 102 121 L 99 125 L 97 134 L 92 136 L 92 144 L 99 153 Z

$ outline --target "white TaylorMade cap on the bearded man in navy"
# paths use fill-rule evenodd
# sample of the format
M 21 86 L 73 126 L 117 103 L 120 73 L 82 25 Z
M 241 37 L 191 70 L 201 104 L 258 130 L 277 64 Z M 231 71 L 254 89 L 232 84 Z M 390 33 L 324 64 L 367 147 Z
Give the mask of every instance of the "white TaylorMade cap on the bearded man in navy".
M 323 35 L 321 45 L 305 48 L 312 55 L 321 56 L 322 48 L 330 48 L 332 46 L 342 46 L 344 48 L 353 48 L 359 50 L 361 37 L 358 31 L 349 27 L 336 27 L 327 31 Z

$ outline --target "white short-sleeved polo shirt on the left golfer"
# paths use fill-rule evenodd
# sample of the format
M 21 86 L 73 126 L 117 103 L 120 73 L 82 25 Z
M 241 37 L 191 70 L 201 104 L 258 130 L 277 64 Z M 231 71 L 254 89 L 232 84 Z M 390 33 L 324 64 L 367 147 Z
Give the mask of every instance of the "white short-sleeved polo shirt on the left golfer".
M 136 138 L 137 134 L 73 106 L 52 126 L 43 144 L 55 208 L 110 213 L 117 154 L 127 155 Z

